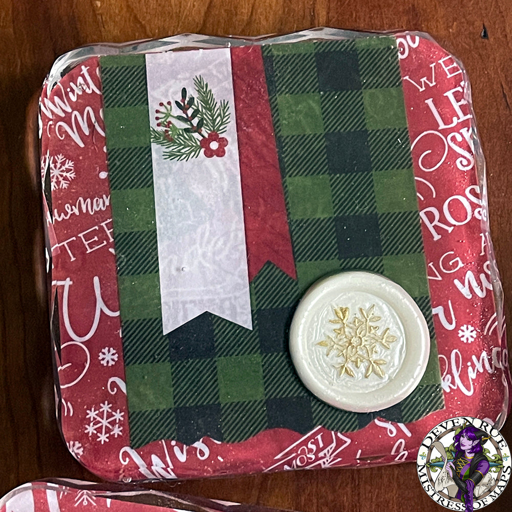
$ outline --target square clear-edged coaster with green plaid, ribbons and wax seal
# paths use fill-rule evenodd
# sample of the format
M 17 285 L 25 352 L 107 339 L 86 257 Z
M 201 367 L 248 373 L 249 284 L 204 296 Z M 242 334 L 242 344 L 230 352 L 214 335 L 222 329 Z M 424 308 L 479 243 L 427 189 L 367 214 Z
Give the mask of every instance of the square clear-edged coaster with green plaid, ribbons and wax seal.
M 57 60 L 41 177 L 71 453 L 110 480 L 187 478 L 414 460 L 442 419 L 501 426 L 470 100 L 419 33 Z

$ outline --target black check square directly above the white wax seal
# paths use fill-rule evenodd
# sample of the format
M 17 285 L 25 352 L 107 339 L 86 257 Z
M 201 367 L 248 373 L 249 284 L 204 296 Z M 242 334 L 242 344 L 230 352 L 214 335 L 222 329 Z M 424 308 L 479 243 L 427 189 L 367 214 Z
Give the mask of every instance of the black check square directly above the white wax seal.
M 339 258 L 380 256 L 380 232 L 377 214 L 336 217 Z

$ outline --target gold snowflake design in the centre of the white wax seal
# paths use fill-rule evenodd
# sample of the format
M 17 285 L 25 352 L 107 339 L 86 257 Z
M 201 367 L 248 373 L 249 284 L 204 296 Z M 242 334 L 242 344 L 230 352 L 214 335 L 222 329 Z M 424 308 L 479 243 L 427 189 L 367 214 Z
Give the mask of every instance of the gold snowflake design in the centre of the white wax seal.
M 316 345 L 326 347 L 326 355 L 334 353 L 339 358 L 340 364 L 333 365 L 338 375 L 349 375 L 355 378 L 354 369 L 364 367 L 365 377 L 368 378 L 375 373 L 381 378 L 386 374 L 382 366 L 389 361 L 379 356 L 379 348 L 390 350 L 390 343 L 396 342 L 397 337 L 390 334 L 389 327 L 386 327 L 381 333 L 378 323 L 380 316 L 374 314 L 375 304 L 367 310 L 359 308 L 359 316 L 354 315 L 350 320 L 350 309 L 333 307 L 336 318 L 330 319 L 331 324 L 338 324 L 339 327 L 333 328 L 334 335 L 327 335 L 325 339 Z

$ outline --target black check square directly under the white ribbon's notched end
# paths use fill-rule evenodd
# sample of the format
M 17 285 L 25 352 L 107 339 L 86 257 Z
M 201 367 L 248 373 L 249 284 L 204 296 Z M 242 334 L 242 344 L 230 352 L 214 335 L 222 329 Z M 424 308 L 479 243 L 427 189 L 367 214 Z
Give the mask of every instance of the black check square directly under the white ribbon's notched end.
M 215 357 L 214 325 L 203 313 L 167 334 L 171 361 Z

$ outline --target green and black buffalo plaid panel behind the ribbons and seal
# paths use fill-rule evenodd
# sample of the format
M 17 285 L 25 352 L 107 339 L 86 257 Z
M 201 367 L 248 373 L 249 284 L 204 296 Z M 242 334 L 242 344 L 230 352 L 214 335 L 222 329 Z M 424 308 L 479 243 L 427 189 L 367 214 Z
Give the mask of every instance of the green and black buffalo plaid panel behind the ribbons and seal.
M 161 438 L 236 442 L 265 429 L 358 430 L 443 407 L 410 140 L 394 39 L 263 47 L 297 269 L 267 263 L 250 284 L 253 330 L 210 313 L 162 334 L 143 56 L 103 57 L 101 76 L 134 447 Z M 257 120 L 255 120 L 257 122 Z M 288 353 L 304 291 L 329 272 L 369 270 L 414 297 L 431 354 L 418 388 L 358 414 L 313 396 Z

